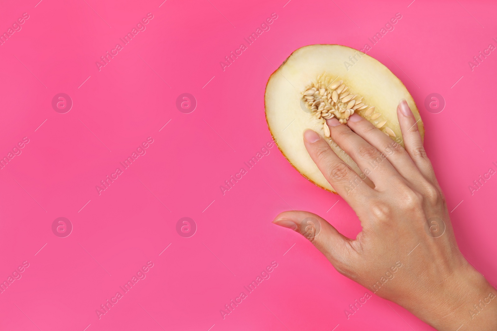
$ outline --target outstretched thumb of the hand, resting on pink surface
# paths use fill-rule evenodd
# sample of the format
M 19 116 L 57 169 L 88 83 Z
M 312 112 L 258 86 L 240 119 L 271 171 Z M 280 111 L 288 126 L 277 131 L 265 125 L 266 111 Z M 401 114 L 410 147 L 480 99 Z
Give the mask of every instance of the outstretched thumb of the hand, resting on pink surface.
M 333 265 L 335 263 L 347 264 L 352 240 L 339 233 L 324 218 L 308 211 L 293 210 L 278 214 L 273 223 L 299 232 L 313 243 Z

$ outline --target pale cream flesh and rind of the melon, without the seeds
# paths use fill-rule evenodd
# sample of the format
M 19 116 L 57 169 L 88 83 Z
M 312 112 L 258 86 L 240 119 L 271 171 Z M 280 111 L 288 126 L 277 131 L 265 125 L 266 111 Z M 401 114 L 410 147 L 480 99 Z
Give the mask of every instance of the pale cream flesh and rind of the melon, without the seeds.
M 346 66 L 345 62 L 353 66 Z M 347 68 L 348 67 L 348 68 Z M 343 80 L 349 90 L 363 96 L 368 106 L 375 107 L 381 117 L 371 120 L 365 111 L 356 111 L 360 116 L 376 125 L 382 120 L 395 132 L 392 139 L 402 146 L 402 133 L 397 119 L 399 100 L 406 99 L 413 111 L 421 138 L 424 128 L 413 97 L 386 66 L 376 59 L 350 47 L 341 45 L 310 45 L 294 51 L 268 79 L 264 95 L 265 115 L 269 131 L 278 149 L 290 164 L 305 178 L 322 189 L 336 194 L 309 156 L 303 141 L 305 129 L 320 133 L 333 151 L 358 175 L 363 175 L 357 164 L 331 138 L 325 137 L 323 126 L 302 106 L 302 93 L 317 81 L 319 75 L 328 75 Z M 364 177 L 362 177 L 364 178 Z

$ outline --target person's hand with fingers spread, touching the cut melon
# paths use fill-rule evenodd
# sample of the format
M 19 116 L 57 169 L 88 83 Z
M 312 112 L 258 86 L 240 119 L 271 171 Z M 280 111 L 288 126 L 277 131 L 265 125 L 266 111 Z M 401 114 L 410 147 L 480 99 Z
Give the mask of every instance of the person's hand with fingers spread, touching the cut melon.
M 331 138 L 357 163 L 361 178 L 316 132 L 304 143 L 336 192 L 354 209 L 355 240 L 307 211 L 275 224 L 308 238 L 338 272 L 440 331 L 497 330 L 497 291 L 457 247 L 447 205 L 405 100 L 397 108 L 405 148 L 354 114 L 328 120 Z M 370 180 L 370 181 L 369 181 Z M 371 187 L 371 182 L 374 187 Z

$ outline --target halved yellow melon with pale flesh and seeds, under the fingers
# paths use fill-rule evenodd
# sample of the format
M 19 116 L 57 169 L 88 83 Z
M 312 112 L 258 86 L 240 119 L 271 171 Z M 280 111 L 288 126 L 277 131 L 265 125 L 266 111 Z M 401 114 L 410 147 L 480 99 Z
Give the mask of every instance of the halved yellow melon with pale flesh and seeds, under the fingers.
M 356 113 L 404 146 L 397 105 L 406 99 L 421 137 L 423 124 L 414 99 L 392 71 L 372 57 L 341 45 L 299 48 L 274 71 L 264 96 L 266 121 L 281 153 L 304 177 L 336 193 L 309 156 L 305 129 L 325 138 L 333 151 L 357 174 L 363 173 L 331 138 L 326 119 L 346 124 Z

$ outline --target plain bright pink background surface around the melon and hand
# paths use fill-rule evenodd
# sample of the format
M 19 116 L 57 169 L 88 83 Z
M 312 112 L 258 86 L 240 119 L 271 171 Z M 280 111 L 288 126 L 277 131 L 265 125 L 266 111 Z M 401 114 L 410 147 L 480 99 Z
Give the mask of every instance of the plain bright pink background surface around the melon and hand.
M 29 19 L 0 46 L 0 156 L 29 143 L 0 170 L 0 280 L 29 267 L 0 294 L 1 330 L 432 330 L 377 296 L 346 319 L 366 290 L 271 220 L 309 210 L 349 237 L 359 222 L 276 147 L 220 190 L 270 141 L 263 95 L 275 67 L 305 45 L 362 49 L 397 12 L 368 54 L 414 96 L 461 251 L 496 284 L 497 178 L 468 189 L 496 169 L 497 55 L 468 65 L 497 46 L 496 3 L 286 1 L 2 1 L 0 31 Z M 149 12 L 146 30 L 99 71 L 95 62 Z M 270 30 L 223 71 L 273 12 Z M 51 106 L 60 92 L 74 103 L 66 114 Z M 446 101 L 439 114 L 423 106 L 434 92 Z M 197 100 L 190 114 L 176 109 L 181 93 Z M 146 154 L 99 196 L 95 186 L 149 136 Z M 185 216 L 198 227 L 190 238 L 175 228 Z M 57 217 L 73 224 L 66 238 L 52 232 Z M 148 261 L 146 278 L 98 319 Z M 223 319 L 272 261 L 270 278 Z

